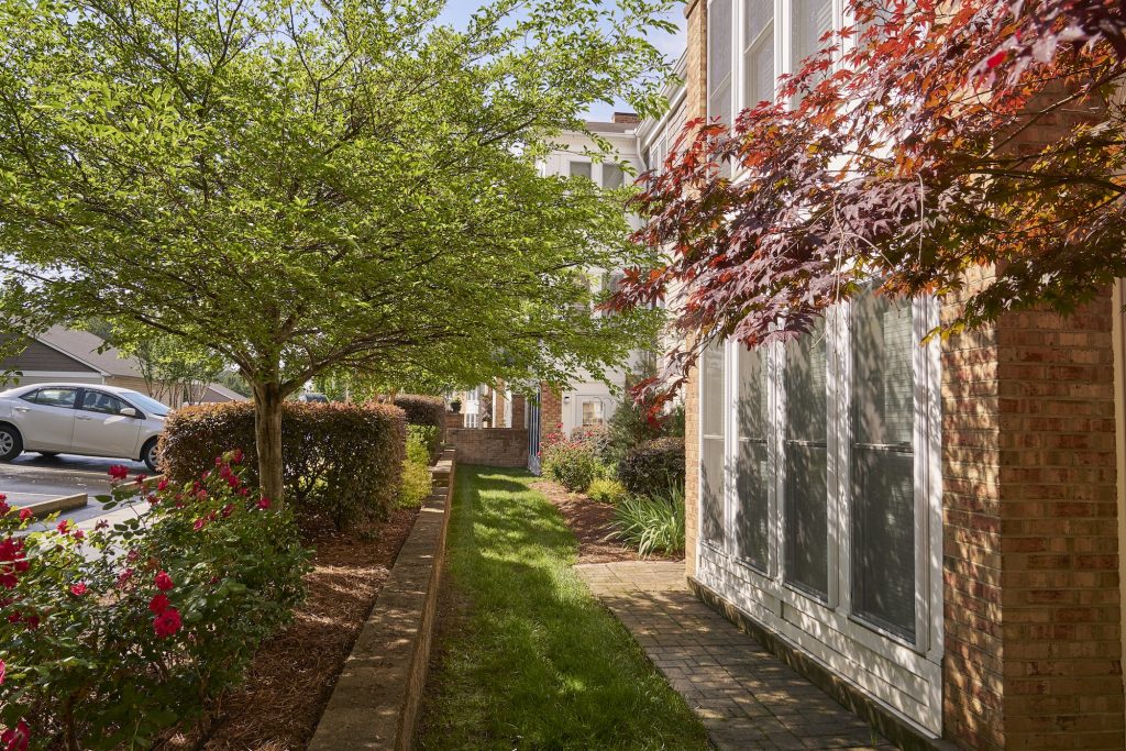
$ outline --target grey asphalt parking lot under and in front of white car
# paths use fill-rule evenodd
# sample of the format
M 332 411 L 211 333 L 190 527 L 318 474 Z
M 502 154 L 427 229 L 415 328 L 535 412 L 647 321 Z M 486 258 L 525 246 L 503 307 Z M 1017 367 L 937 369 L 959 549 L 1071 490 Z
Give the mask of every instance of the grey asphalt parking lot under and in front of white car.
M 151 474 L 141 462 L 123 459 L 72 456 L 61 454 L 54 457 L 24 454 L 14 462 L 0 464 L 0 493 L 8 497 L 12 506 L 35 501 L 86 493 L 88 504 L 63 516 L 80 521 L 102 512 L 95 495 L 109 492 L 109 467 L 120 464 L 129 474 Z

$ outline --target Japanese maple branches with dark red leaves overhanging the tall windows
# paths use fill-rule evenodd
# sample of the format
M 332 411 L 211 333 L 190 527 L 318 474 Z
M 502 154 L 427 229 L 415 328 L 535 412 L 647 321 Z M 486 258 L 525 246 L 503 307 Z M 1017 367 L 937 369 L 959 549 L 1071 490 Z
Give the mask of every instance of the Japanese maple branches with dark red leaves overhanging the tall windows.
M 716 337 L 806 331 L 872 279 L 947 295 L 990 267 L 945 333 L 1067 313 L 1126 275 L 1126 3 L 868 0 L 855 15 L 776 101 L 730 129 L 690 123 L 640 181 L 635 240 L 668 262 L 627 274 L 610 305 L 679 289 L 679 374 Z

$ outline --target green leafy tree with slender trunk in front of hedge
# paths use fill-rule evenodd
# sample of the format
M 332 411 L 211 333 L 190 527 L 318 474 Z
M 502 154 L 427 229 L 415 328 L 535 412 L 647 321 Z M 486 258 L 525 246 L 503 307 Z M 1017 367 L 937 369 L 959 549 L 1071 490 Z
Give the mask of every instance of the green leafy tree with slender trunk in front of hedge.
M 537 160 L 591 102 L 656 108 L 672 1 L 456 30 L 440 0 L 0 0 L 0 313 L 235 364 L 274 497 L 282 401 L 321 372 L 597 375 L 651 324 L 593 314 L 579 270 L 645 251 L 628 191 Z

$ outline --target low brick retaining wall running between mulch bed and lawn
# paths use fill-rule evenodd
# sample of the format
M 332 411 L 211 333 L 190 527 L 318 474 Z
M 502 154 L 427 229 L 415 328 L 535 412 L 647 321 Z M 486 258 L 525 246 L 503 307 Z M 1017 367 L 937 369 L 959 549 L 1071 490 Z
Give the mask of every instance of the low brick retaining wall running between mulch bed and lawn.
M 455 452 L 432 468 L 435 488 L 379 590 L 309 751 L 412 746 L 454 495 Z

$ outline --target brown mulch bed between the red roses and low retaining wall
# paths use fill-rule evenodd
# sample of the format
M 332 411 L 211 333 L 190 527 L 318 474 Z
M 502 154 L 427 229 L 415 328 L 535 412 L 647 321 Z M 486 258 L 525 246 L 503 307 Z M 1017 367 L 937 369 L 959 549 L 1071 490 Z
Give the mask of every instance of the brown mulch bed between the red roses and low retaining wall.
M 294 622 L 262 645 L 247 681 L 189 733 L 163 749 L 289 751 L 304 749 L 345 660 L 383 588 L 418 509 L 397 509 L 365 530 L 306 530 L 313 570 L 309 599 Z

